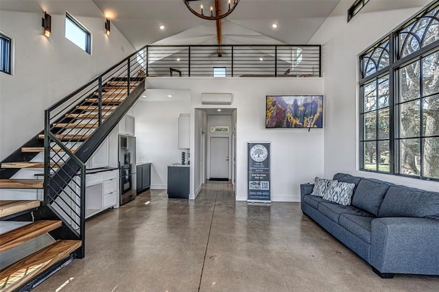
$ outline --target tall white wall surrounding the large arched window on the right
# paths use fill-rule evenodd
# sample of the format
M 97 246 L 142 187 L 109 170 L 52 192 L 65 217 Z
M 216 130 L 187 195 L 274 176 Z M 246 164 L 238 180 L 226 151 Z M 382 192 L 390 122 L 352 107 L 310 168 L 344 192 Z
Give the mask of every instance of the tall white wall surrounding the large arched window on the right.
M 355 18 L 346 23 L 346 10 L 352 1 L 341 1 L 310 43 L 322 44 L 324 77 L 324 176 L 345 172 L 378 178 L 432 191 L 438 182 L 425 182 L 395 175 L 359 171 L 358 167 L 358 55 L 418 12 L 429 0 L 412 1 L 418 8 L 385 10 L 385 1 L 370 1 Z

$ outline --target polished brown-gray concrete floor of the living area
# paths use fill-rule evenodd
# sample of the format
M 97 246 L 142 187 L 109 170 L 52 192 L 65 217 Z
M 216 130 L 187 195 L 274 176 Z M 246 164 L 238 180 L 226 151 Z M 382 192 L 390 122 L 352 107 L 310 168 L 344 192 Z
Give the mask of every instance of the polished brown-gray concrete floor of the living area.
M 439 277 L 381 279 L 300 204 L 235 202 L 209 182 L 195 202 L 146 191 L 89 219 L 86 258 L 34 291 L 439 291 Z

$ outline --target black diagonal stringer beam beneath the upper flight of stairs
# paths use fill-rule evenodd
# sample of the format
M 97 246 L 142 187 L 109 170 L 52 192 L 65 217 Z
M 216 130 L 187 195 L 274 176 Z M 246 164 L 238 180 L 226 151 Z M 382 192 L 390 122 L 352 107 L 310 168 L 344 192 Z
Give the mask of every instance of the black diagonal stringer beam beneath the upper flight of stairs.
M 82 143 L 82 145 L 75 151 L 75 156 L 85 162 L 91 155 L 95 152 L 97 147 L 101 145 L 104 139 L 110 134 L 110 132 L 117 126 L 117 123 L 122 119 L 122 117 L 130 110 L 130 108 L 134 105 L 134 103 L 139 99 L 141 94 L 145 91 L 145 80 L 141 82 L 132 90 L 130 95 L 124 99 L 121 104 L 116 108 L 112 114 L 100 125 L 100 127 L 95 130 L 91 136 Z M 56 171 L 55 175 L 51 175 L 49 178 L 48 184 L 48 195 L 52 199 L 56 198 L 56 196 L 61 193 L 62 189 L 64 189 L 67 184 L 78 174 L 80 170 L 79 165 L 73 161 L 68 160 L 58 171 Z

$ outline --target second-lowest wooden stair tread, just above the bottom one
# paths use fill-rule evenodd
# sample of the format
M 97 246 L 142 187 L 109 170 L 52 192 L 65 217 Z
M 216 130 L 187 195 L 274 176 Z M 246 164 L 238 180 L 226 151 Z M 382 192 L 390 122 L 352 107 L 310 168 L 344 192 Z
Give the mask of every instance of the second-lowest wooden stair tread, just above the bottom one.
M 40 220 L 21 228 L 11 230 L 0 235 L 0 252 L 10 250 L 12 247 L 21 245 L 37 236 L 55 230 L 62 226 L 60 220 Z

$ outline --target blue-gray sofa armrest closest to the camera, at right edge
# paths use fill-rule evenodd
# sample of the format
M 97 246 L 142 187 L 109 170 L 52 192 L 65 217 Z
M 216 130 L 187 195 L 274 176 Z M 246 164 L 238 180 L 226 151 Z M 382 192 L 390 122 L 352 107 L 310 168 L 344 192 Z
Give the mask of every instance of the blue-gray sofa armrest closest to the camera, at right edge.
M 381 273 L 439 275 L 439 220 L 372 220 L 370 265 Z

